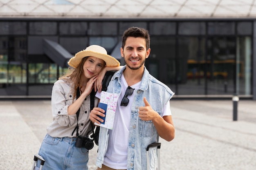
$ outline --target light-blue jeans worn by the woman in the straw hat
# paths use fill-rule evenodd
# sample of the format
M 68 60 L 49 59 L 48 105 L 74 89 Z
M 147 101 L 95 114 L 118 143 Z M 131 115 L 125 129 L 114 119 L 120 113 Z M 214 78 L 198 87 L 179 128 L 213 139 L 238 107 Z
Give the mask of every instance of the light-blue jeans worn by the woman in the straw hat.
M 45 159 L 43 170 L 88 170 L 89 150 L 77 148 L 76 138 L 46 135 L 38 155 Z M 38 161 L 37 167 L 40 167 Z

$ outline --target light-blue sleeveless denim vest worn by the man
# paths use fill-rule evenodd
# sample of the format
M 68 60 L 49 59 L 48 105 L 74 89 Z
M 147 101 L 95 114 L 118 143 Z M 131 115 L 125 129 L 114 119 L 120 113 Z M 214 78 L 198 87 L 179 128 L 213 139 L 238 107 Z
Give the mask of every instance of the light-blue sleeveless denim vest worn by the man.
M 108 85 L 107 92 L 115 93 L 118 96 L 121 93 L 121 74 L 126 66 L 115 73 Z M 148 103 L 162 116 L 163 108 L 174 93 L 168 86 L 155 79 L 144 67 L 144 74 L 141 79 L 141 85 L 134 92 L 134 99 L 131 100 L 131 119 L 129 127 L 129 142 L 127 155 L 127 170 L 146 170 L 146 148 L 153 142 L 158 142 L 159 135 L 152 121 L 143 121 L 138 117 L 140 106 L 145 106 L 143 97 L 146 97 Z M 117 106 L 118 107 L 118 106 Z M 108 147 L 108 129 L 100 128 L 99 150 L 96 165 L 101 168 L 104 161 L 104 155 Z M 118 159 L 118 158 L 117 158 Z M 149 150 L 150 169 L 157 167 L 156 148 Z

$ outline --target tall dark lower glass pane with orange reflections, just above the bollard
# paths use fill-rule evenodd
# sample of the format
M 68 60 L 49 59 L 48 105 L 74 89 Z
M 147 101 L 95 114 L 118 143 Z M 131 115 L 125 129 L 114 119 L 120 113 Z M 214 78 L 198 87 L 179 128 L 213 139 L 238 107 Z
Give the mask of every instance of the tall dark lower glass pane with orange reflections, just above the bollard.
M 236 38 L 209 38 L 207 48 L 207 95 L 233 95 Z

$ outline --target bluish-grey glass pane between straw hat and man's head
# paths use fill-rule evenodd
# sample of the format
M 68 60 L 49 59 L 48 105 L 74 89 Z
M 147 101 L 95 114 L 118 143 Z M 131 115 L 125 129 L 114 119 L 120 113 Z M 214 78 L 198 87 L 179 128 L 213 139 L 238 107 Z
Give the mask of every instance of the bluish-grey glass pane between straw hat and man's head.
M 112 50 L 115 48 L 117 44 L 117 38 L 114 37 L 90 37 L 90 44 L 89 45 L 99 45 L 103 46 L 108 54 L 111 54 Z

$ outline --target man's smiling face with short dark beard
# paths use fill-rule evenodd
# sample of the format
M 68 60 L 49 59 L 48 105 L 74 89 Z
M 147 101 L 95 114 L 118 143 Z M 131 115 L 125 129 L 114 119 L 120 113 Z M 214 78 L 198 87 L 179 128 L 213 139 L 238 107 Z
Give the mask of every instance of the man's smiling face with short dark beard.
M 121 48 L 121 55 L 124 57 L 126 66 L 132 70 L 137 70 L 144 66 L 150 49 L 146 50 L 146 40 L 144 38 L 128 37 L 124 46 Z

